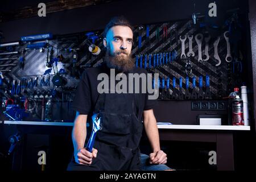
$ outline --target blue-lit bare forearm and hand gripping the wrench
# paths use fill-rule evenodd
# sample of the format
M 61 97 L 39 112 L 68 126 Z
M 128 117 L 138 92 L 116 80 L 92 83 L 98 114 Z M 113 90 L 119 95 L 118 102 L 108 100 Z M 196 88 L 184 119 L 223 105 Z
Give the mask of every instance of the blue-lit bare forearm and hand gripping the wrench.
M 92 153 L 84 148 L 86 139 L 87 115 L 76 112 L 76 119 L 72 130 L 72 140 L 74 146 L 74 156 L 76 163 L 91 164 L 92 158 L 96 158 L 97 150 L 93 148 Z

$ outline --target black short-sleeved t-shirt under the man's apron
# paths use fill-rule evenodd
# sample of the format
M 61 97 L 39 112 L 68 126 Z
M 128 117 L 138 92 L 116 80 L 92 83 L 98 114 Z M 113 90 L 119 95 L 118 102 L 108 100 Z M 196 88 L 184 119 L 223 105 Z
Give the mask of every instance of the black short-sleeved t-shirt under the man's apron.
M 91 115 L 98 98 L 97 86 L 102 80 L 97 80 L 100 73 L 110 75 L 110 69 L 102 63 L 99 67 L 88 68 L 82 73 L 81 80 L 77 86 L 76 96 L 72 103 L 72 109 L 80 114 Z M 115 70 L 115 74 L 118 72 Z M 133 68 L 129 73 L 147 73 L 146 69 Z M 127 76 L 128 77 L 128 76 Z M 147 91 L 147 89 L 146 89 Z M 142 119 L 143 110 L 153 109 L 156 100 L 148 100 L 148 93 L 135 93 L 138 106 L 138 118 Z M 130 101 L 127 101 L 130 102 Z

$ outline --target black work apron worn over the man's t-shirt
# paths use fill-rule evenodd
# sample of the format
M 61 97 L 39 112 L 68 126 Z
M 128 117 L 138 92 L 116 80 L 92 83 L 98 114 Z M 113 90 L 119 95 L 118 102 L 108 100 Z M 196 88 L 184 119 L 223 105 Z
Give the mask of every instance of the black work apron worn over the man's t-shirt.
M 100 113 L 102 128 L 93 146 L 98 150 L 97 158 L 90 166 L 78 164 L 81 170 L 141 170 L 143 125 L 138 119 L 138 105 L 134 93 L 99 94 L 94 107 L 94 113 Z

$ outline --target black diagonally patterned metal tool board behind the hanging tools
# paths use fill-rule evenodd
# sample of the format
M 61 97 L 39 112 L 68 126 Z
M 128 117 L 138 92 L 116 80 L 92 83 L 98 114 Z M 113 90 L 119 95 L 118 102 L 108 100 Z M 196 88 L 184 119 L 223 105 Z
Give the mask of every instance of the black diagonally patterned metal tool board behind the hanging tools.
M 166 28 L 166 30 L 164 30 Z M 176 32 L 175 32 L 176 30 Z M 154 55 L 156 53 L 172 53 L 177 51 L 177 57 L 174 59 L 174 57 L 168 57 L 168 63 L 167 64 L 161 64 L 158 67 L 149 68 L 148 62 L 145 67 L 144 65 L 144 58 L 143 58 L 143 64 L 142 67 L 146 68 L 149 73 L 159 73 L 160 82 L 162 85 L 162 78 L 170 78 L 170 88 L 171 92 L 173 91 L 173 85 L 172 85 L 172 78 L 176 77 L 176 80 L 179 80 L 179 77 L 183 77 L 183 86 L 182 86 L 182 92 L 185 94 L 185 77 L 189 77 L 189 91 L 192 90 L 192 77 L 196 77 L 196 90 L 197 93 L 199 92 L 199 77 L 203 76 L 203 89 L 205 90 L 205 76 L 209 75 L 210 77 L 210 92 L 212 94 L 213 100 L 220 100 L 222 97 L 226 96 L 232 87 L 234 85 L 240 86 L 241 80 L 239 82 L 235 82 L 235 80 L 232 80 L 232 76 L 230 73 L 232 73 L 232 63 L 227 63 L 225 61 L 225 56 L 227 52 L 226 48 L 226 41 L 224 39 L 224 31 L 228 30 L 228 27 L 224 27 L 223 30 L 220 32 L 220 43 L 218 44 L 218 55 L 221 58 L 221 64 L 216 67 L 217 61 L 213 59 L 214 55 L 214 48 L 213 48 L 213 41 L 216 40 L 216 38 L 212 38 L 209 42 L 209 60 L 208 61 L 197 61 L 198 59 L 198 46 L 195 41 L 195 35 L 199 33 L 204 33 L 204 30 L 201 28 L 194 28 L 192 27 L 192 20 L 180 20 L 175 22 L 163 22 L 158 24 L 150 24 L 149 26 L 149 36 L 146 38 L 146 28 L 142 32 L 142 43 L 141 48 L 138 46 L 138 40 L 139 40 L 139 28 L 136 27 L 134 31 L 134 46 L 133 46 L 133 56 L 137 55 Z M 164 31 L 167 33 L 166 37 L 164 37 Z M 159 32 L 159 34 L 158 34 Z M 96 45 L 101 47 L 103 50 L 102 45 L 102 31 L 94 31 L 95 34 L 97 34 L 100 38 L 96 40 Z M 158 35 L 157 35 L 158 34 Z M 176 34 L 176 36 L 175 36 Z M 188 36 L 193 35 L 193 51 L 195 52 L 194 57 L 189 57 L 189 61 L 192 65 L 192 73 L 186 74 L 185 72 L 185 64 L 187 63 L 186 59 L 180 59 L 181 55 L 181 41 L 179 40 L 180 36 Z M 177 38 L 178 39 L 177 39 Z M 146 39 L 150 40 L 150 46 L 146 43 Z M 203 39 L 204 40 L 204 39 Z M 79 82 L 79 75 L 81 75 L 82 71 L 88 67 L 97 67 L 98 64 L 100 64 L 103 61 L 103 57 L 105 55 L 105 52 L 102 51 L 100 55 L 98 56 L 92 56 L 90 52 L 88 51 L 88 44 L 87 42 L 87 36 L 84 32 L 78 33 L 78 34 L 71 34 L 71 35 L 61 35 L 61 36 L 55 36 L 55 39 L 50 40 L 49 44 L 53 46 L 53 55 L 52 57 L 56 57 L 59 54 L 62 54 L 64 56 L 63 61 L 58 64 L 58 69 L 65 69 L 67 74 L 63 75 L 67 78 L 68 83 L 62 88 L 56 88 L 52 85 L 52 82 L 50 86 L 44 86 L 42 84 L 38 84 L 38 87 L 36 88 L 28 88 L 26 92 L 24 93 L 24 96 L 35 96 L 35 95 L 43 95 L 43 94 L 49 94 L 49 91 L 52 89 L 57 90 L 57 96 L 55 97 L 55 105 L 53 107 L 56 107 L 57 113 L 59 114 L 53 114 L 55 115 L 55 119 L 72 119 L 74 116 L 73 111 L 69 111 L 69 104 L 72 101 L 72 98 L 75 95 L 75 88 Z M 189 48 L 188 48 L 188 39 L 185 41 L 185 53 L 187 54 Z M 26 48 L 26 45 L 19 46 L 19 47 L 12 47 L 13 49 L 9 49 L 9 51 L 18 51 L 22 52 L 24 48 Z M 77 51 L 78 53 L 78 60 L 76 63 L 76 70 L 77 70 L 77 76 L 72 77 L 70 76 L 71 68 L 72 68 L 72 56 L 73 52 L 68 51 L 68 49 L 76 49 L 79 48 Z M 202 43 L 202 52 L 204 52 L 205 43 L 203 41 Z M 8 52 L 6 49 L 1 49 L 1 52 Z M 2 56 L 3 58 L 10 58 L 14 56 Z M 48 69 L 46 67 L 46 51 L 40 52 L 39 50 L 28 50 L 24 54 L 25 57 L 25 65 L 23 69 L 20 69 L 18 66 L 18 59 L 16 60 L 7 60 L 7 61 L 1 61 L 1 64 L 17 64 L 14 67 L 3 67 L 3 69 L 11 69 L 11 72 L 5 72 L 4 75 L 6 77 L 5 80 L 3 80 L 2 89 L 1 89 L 1 96 L 10 98 L 10 89 L 11 89 L 11 83 L 13 80 L 22 80 L 22 78 L 26 78 L 27 83 L 29 80 L 34 80 L 36 77 L 38 77 L 38 83 L 45 78 L 52 78 L 53 75 L 46 75 L 43 76 L 44 71 Z M 162 60 L 163 61 L 163 60 Z M 151 60 L 151 64 L 153 65 L 153 59 Z M 242 74 L 241 74 L 242 75 Z M 228 79 L 231 77 L 231 80 Z M 241 77 L 242 78 L 242 77 Z M 176 81 L 176 85 L 177 82 Z M 26 84 L 26 82 L 25 82 Z M 165 83 L 166 84 L 166 83 Z M 179 86 L 176 86 L 176 91 L 179 92 Z M 68 96 L 65 96 L 63 98 L 62 93 L 68 93 Z M 61 103 L 61 107 L 60 107 Z M 67 106 L 68 105 L 68 106 Z M 65 112 L 65 108 L 68 108 L 68 112 Z M 65 114 L 64 114 L 65 113 Z M 68 113 L 68 114 L 67 114 Z M 72 114 L 71 114 L 72 113 Z M 60 117 L 61 116 L 61 117 Z

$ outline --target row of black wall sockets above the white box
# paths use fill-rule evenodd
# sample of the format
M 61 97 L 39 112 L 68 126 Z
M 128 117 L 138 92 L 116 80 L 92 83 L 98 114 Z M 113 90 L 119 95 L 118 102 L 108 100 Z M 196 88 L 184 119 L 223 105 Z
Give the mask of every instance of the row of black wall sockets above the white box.
M 191 101 L 191 110 L 226 110 L 225 101 Z

